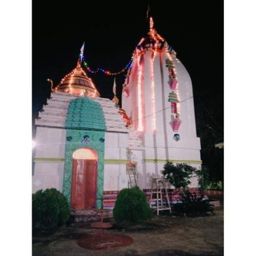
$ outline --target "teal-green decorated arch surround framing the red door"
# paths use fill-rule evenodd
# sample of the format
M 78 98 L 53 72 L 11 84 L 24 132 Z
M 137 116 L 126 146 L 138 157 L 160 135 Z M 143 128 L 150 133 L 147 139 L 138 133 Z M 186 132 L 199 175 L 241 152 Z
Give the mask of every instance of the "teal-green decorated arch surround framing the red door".
M 82 147 L 93 148 L 98 154 L 97 198 L 103 197 L 105 118 L 101 105 L 89 97 L 72 99 L 66 119 L 65 168 L 63 195 L 70 203 L 72 183 L 72 155 Z M 101 202 L 97 201 L 97 208 Z

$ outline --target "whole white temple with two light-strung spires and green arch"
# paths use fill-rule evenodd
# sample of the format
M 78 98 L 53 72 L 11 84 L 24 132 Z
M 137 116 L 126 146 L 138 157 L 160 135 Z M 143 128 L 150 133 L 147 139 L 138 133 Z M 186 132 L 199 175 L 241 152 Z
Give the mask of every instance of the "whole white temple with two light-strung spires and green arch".
M 71 209 L 115 205 L 122 188 L 141 189 L 161 176 L 166 160 L 199 168 L 200 138 L 191 79 L 176 52 L 154 28 L 133 52 L 122 91 L 122 108 L 100 92 L 82 68 L 54 87 L 35 120 L 33 193 L 56 188 Z M 197 180 L 191 180 L 197 187 Z

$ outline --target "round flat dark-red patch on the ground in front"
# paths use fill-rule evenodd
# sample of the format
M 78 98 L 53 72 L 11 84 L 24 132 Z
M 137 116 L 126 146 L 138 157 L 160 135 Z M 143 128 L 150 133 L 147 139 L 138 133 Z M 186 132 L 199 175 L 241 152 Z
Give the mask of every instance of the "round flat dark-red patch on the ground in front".
M 131 237 L 106 232 L 103 233 L 102 237 L 100 237 L 100 234 L 93 234 L 77 241 L 79 246 L 90 250 L 119 248 L 131 245 L 132 243 L 133 239 Z

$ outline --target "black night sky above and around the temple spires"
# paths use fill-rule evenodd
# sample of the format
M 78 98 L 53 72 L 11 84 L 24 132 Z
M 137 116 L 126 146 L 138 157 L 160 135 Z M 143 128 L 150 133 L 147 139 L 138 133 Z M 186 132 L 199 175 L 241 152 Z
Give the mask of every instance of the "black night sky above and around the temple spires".
M 82 42 L 92 69 L 119 71 L 148 32 L 148 1 L 33 1 L 33 119 L 76 65 Z M 203 102 L 223 127 L 223 1 L 150 1 L 154 27 L 191 76 L 195 105 Z M 89 74 L 101 97 L 113 97 L 113 76 Z M 116 77 L 121 99 L 124 74 Z M 197 113 L 196 113 L 197 115 Z M 210 124 L 214 125 L 214 123 Z

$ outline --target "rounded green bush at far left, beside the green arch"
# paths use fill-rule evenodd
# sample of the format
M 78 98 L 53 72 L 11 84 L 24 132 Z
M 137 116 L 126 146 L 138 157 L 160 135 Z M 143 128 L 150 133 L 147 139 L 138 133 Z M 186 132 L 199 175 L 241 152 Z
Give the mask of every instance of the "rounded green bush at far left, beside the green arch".
M 54 229 L 69 220 L 67 198 L 55 188 L 32 194 L 33 229 Z

